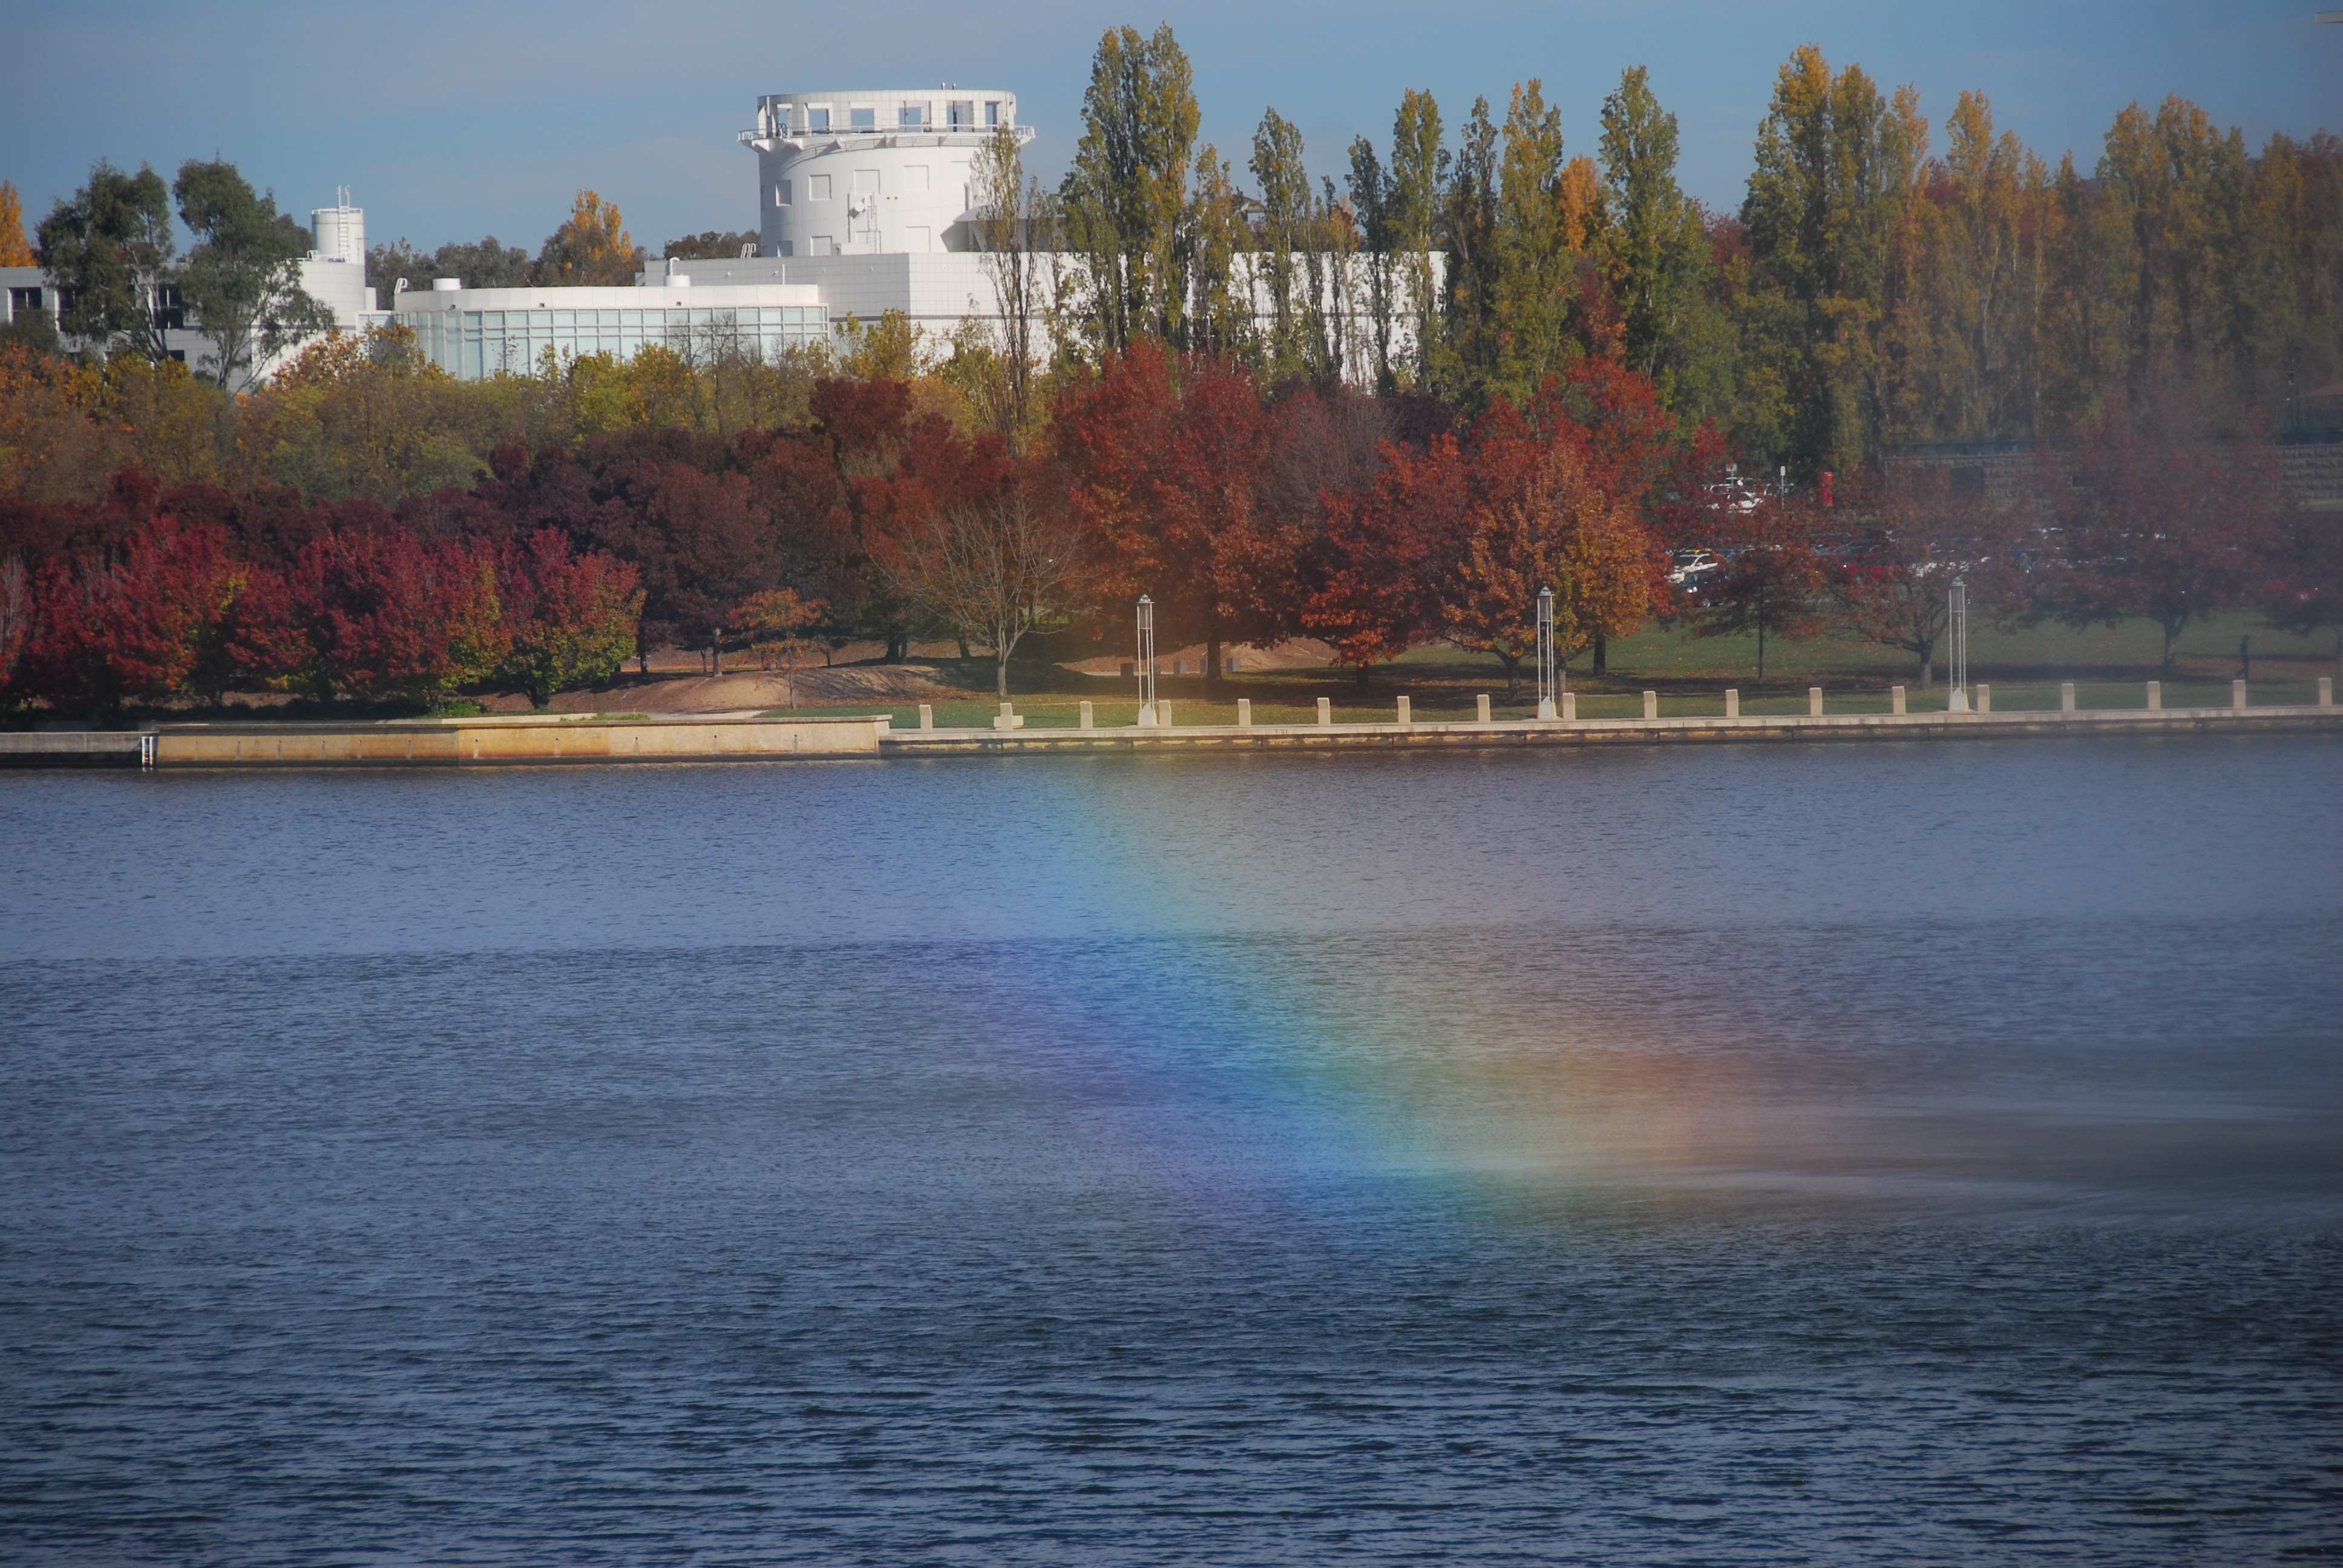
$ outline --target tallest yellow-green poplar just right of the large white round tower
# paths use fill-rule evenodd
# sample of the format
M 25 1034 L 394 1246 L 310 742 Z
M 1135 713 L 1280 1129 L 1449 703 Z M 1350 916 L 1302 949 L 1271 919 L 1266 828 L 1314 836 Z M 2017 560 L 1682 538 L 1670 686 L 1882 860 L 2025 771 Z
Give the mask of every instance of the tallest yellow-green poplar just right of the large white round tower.
M 1195 157 L 1195 73 L 1172 26 L 1111 28 L 1082 94 L 1082 141 L 1059 188 L 1085 258 L 1089 333 L 1106 354 L 1139 335 L 1181 340 L 1181 227 Z

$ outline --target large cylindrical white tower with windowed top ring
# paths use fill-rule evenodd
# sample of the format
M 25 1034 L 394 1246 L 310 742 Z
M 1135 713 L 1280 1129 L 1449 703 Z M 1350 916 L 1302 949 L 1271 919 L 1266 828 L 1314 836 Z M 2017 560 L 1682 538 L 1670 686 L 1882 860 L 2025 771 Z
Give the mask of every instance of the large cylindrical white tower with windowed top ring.
M 766 94 L 757 129 L 764 255 L 893 255 L 972 251 L 968 162 L 1017 94 L 935 87 Z

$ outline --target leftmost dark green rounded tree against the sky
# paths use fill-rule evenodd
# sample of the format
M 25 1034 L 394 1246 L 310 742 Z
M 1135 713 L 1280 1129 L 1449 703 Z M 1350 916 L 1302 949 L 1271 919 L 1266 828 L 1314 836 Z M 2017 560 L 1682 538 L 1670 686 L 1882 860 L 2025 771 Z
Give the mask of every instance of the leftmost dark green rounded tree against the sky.
M 164 359 L 157 288 L 176 248 L 162 176 L 101 159 L 89 183 L 40 220 L 40 265 L 66 295 L 59 326 L 98 354 Z

